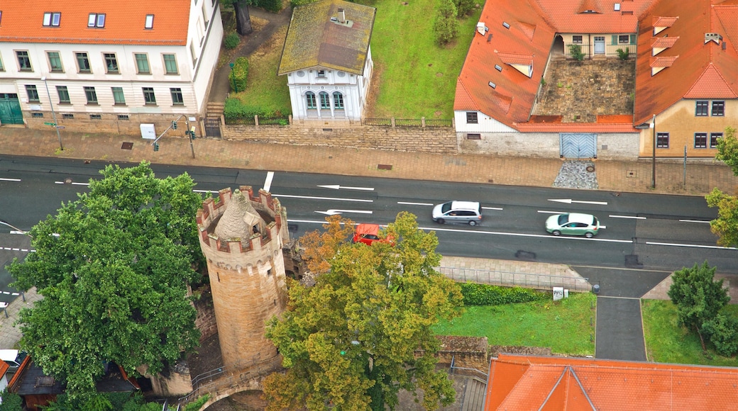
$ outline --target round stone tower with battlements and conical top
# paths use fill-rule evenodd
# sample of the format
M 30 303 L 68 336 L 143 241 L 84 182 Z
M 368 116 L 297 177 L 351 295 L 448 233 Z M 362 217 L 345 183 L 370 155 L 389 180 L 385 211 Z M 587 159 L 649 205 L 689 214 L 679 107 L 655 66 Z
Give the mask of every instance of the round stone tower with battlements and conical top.
M 269 192 L 253 197 L 251 186 L 223 189 L 218 196 L 197 212 L 200 247 L 224 365 L 248 365 L 277 355 L 264 332 L 266 321 L 286 306 L 287 211 Z

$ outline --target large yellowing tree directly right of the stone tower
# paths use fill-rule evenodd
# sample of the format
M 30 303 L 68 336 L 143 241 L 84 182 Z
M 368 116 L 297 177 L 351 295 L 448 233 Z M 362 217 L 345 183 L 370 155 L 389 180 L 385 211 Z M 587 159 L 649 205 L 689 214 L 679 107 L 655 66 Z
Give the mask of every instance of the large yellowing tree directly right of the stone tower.
M 427 410 L 452 404 L 452 383 L 435 370 L 432 326 L 457 315 L 462 297 L 434 269 L 435 233 L 419 230 L 408 213 L 387 227 L 395 246 L 351 245 L 337 217 L 326 228 L 335 236 L 303 246 L 317 247 L 310 254 L 317 259 L 331 255 L 329 267 L 312 287 L 291 284 L 289 310 L 269 322 L 266 335 L 287 371 L 264 382 L 268 409 L 393 410 L 399 390 L 418 388 Z

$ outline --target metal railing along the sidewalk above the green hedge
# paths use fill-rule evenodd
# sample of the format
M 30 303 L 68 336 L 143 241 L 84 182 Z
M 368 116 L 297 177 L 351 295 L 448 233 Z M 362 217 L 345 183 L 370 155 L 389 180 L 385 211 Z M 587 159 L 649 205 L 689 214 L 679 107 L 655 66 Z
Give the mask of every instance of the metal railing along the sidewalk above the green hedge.
M 589 278 L 568 277 L 535 273 L 512 273 L 508 271 L 475 270 L 472 268 L 438 267 L 438 272 L 454 281 L 502 286 L 551 289 L 564 287 L 570 291 L 589 292 Z

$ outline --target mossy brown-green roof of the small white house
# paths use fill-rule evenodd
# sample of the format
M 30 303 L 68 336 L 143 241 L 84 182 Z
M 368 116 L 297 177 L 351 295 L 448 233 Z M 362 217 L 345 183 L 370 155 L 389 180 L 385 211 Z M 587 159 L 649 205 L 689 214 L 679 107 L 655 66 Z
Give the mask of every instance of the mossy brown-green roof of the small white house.
M 345 23 L 339 9 L 344 10 Z M 375 15 L 374 7 L 342 0 L 296 7 L 277 75 L 313 67 L 363 74 Z

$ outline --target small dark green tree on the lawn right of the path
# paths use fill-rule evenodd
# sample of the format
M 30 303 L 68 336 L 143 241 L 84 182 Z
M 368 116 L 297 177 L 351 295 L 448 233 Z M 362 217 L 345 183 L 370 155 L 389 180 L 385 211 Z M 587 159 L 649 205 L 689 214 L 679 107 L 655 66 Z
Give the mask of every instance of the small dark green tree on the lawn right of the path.
M 683 268 L 672 275 L 669 298 L 677 306 L 677 319 L 687 329 L 700 336 L 703 350 L 703 323 L 717 317 L 720 309 L 731 300 L 728 290 L 723 288 L 723 280 L 715 281 L 715 267 L 705 261 L 702 266 Z

